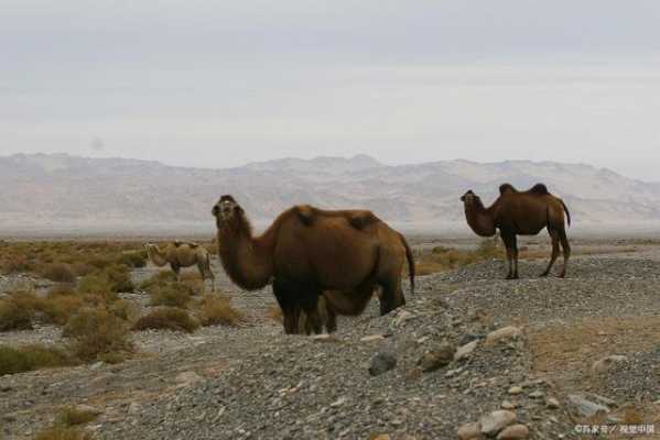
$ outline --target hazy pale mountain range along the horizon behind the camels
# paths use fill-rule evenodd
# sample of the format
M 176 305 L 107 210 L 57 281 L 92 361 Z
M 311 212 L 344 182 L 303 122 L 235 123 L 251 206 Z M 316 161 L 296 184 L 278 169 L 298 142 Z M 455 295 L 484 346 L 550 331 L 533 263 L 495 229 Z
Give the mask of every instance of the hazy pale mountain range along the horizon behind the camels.
M 499 184 L 543 182 L 583 228 L 660 229 L 660 184 L 584 164 L 443 161 L 389 166 L 358 155 L 283 158 L 237 168 L 166 166 L 66 154 L 0 157 L 2 231 L 212 231 L 212 205 L 231 194 L 256 223 L 295 204 L 368 208 L 401 228 L 465 229 L 458 197 L 467 189 L 491 202 Z

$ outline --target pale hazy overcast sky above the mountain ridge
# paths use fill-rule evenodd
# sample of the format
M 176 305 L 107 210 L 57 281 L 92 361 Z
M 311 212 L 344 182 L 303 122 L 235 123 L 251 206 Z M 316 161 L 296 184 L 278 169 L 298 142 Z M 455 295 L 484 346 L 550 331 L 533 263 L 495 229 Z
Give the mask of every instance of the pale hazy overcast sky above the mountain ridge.
M 0 0 L 0 153 L 660 180 L 660 1 Z

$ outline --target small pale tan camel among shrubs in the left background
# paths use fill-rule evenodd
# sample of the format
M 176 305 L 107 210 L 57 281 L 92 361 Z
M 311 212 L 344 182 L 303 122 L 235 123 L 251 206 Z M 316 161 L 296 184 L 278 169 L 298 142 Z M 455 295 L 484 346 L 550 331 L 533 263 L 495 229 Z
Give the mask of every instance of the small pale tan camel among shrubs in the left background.
M 159 267 L 170 264 L 177 278 L 181 267 L 196 265 L 202 279 L 210 279 L 210 288 L 215 292 L 215 275 L 210 271 L 210 255 L 204 246 L 175 241 L 167 243 L 164 249 L 152 243 L 147 243 L 144 249 L 153 264 Z

